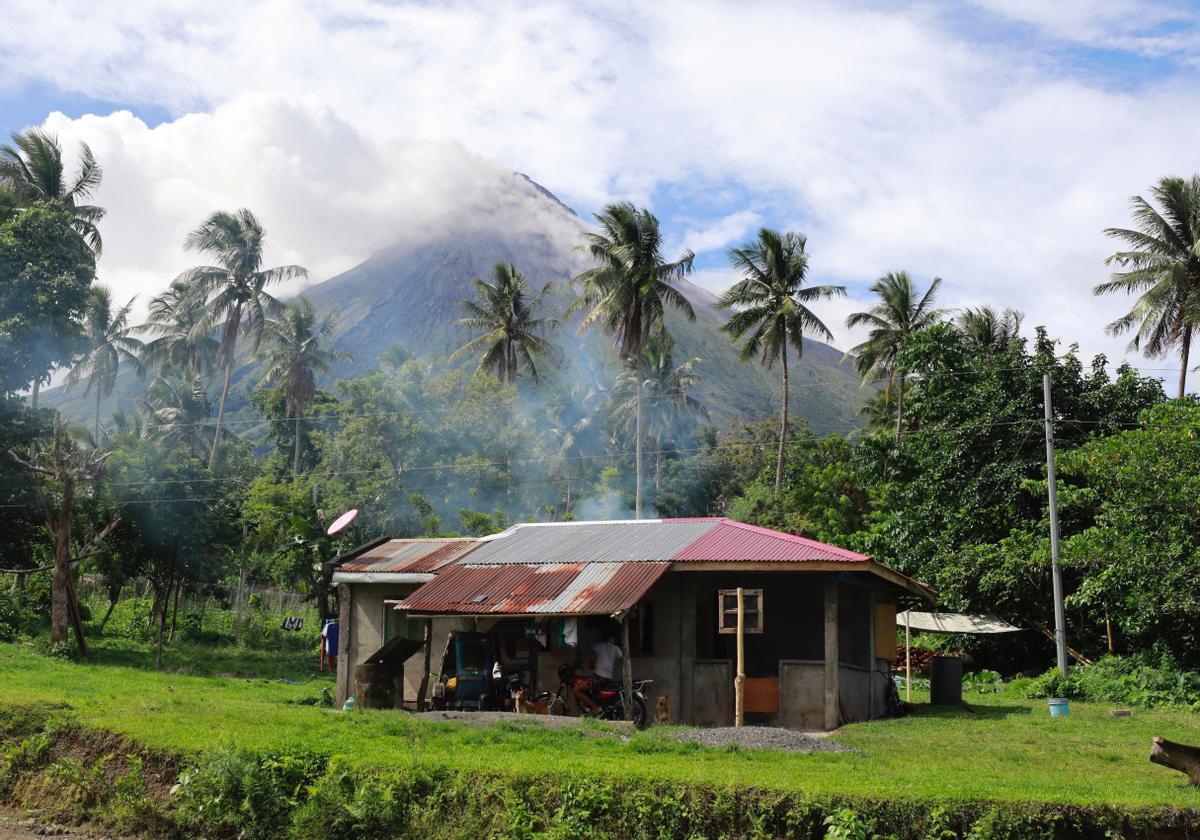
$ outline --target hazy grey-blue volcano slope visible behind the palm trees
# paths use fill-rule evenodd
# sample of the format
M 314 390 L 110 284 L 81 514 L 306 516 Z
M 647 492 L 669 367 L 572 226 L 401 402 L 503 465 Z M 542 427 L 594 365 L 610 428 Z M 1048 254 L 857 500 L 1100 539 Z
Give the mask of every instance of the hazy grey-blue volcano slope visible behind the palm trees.
M 335 344 L 354 358 L 336 368 L 338 377 L 377 368 L 379 355 L 395 344 L 414 355 L 445 359 L 468 338 L 455 322 L 463 314 L 462 300 L 473 294 L 472 278 L 490 277 L 497 262 L 515 264 L 533 288 L 551 284 L 553 311 L 547 314 L 560 316 L 576 294 L 571 277 L 588 266 L 578 250 L 587 230 L 587 224 L 547 190 L 524 175 L 506 175 L 463 198 L 452 212 L 426 220 L 394 245 L 304 294 L 319 311 L 338 314 Z M 702 360 L 697 396 L 713 422 L 726 425 L 778 413 L 779 370 L 742 361 L 720 331 L 725 313 L 716 308 L 716 298 L 686 280 L 678 286 L 691 301 L 696 320 L 689 323 L 670 312 L 667 328 L 676 338 L 677 364 L 694 356 Z M 564 355 L 558 376 L 583 376 L 605 364 L 613 373 L 607 337 L 600 330 L 581 336 L 577 326 L 578 318 L 564 323 L 554 337 Z M 248 361 L 248 353 L 244 358 L 247 362 L 234 374 L 229 412 L 233 428 L 254 436 L 257 415 L 242 409 L 259 372 Z M 792 354 L 788 367 L 792 413 L 805 418 L 814 431 L 845 432 L 862 425 L 858 409 L 870 392 L 859 388 L 840 350 L 805 341 L 803 358 Z M 144 380 L 122 373 L 102 416 L 110 416 L 116 408 L 136 409 L 145 386 Z M 214 395 L 217 386 L 214 382 Z M 65 394 L 62 389 L 47 391 L 44 404 L 61 407 L 77 421 L 91 410 L 78 392 Z

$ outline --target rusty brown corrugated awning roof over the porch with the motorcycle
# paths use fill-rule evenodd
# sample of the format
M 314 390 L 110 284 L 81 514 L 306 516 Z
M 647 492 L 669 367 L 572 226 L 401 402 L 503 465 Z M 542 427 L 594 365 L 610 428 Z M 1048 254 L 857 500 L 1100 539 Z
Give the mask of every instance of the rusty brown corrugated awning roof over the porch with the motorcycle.
M 636 605 L 670 563 L 461 563 L 402 601 L 415 614 L 592 614 Z

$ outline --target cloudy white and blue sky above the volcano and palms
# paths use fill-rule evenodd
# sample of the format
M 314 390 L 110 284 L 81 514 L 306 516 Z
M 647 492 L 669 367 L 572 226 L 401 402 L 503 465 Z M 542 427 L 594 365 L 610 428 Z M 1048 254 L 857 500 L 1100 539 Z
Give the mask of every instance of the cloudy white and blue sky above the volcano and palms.
M 1122 358 L 1103 325 L 1127 302 L 1090 294 L 1102 230 L 1158 176 L 1200 169 L 1196 16 L 1156 0 L 17 0 L 0 130 L 92 145 L 101 269 L 143 299 L 212 206 L 254 206 L 278 256 L 322 277 L 450 212 L 491 167 L 582 215 L 650 205 L 713 289 L 758 226 L 804 232 L 815 280 L 850 288 L 826 313 L 844 347 L 866 286 L 906 269 L 943 277 L 947 306 L 1016 306 Z

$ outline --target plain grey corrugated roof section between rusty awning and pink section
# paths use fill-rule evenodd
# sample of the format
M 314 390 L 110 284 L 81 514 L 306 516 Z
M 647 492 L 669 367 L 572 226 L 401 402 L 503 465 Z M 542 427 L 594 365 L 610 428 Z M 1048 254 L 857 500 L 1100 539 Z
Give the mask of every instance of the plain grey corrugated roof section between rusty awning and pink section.
M 647 563 L 671 560 L 719 520 L 518 524 L 485 540 L 463 563 Z

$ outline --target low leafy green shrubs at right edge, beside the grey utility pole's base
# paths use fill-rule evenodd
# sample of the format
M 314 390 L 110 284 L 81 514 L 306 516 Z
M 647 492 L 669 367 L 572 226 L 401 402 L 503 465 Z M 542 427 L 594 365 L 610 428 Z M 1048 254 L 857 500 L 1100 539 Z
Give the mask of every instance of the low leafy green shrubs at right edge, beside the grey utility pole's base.
M 1200 710 L 1200 672 L 1184 671 L 1170 655 L 1157 662 L 1147 656 L 1105 656 L 1076 666 L 1063 678 L 1057 670 L 1014 683 L 1026 697 L 1070 697 L 1156 708 L 1190 706 Z

